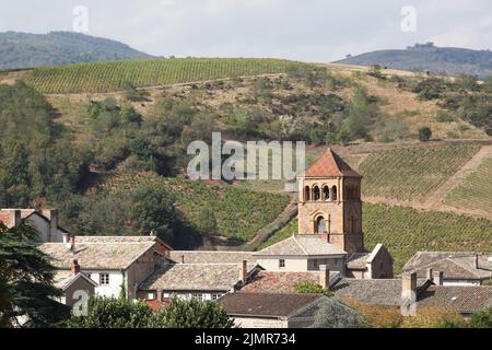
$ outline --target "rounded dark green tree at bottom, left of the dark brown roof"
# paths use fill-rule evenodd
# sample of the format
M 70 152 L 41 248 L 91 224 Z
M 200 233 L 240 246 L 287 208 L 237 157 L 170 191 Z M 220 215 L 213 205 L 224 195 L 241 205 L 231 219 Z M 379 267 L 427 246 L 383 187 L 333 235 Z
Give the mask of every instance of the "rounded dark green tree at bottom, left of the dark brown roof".
M 172 298 L 152 318 L 152 328 L 232 328 L 234 320 L 216 302 Z

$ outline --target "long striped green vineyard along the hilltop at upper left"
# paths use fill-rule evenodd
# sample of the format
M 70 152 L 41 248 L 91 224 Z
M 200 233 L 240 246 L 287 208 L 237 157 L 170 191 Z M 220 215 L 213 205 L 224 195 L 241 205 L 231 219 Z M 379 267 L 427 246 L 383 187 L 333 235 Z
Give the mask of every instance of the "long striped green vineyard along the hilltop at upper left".
M 279 59 L 150 59 L 36 68 L 26 79 L 42 93 L 103 93 L 215 79 L 284 73 L 303 63 Z

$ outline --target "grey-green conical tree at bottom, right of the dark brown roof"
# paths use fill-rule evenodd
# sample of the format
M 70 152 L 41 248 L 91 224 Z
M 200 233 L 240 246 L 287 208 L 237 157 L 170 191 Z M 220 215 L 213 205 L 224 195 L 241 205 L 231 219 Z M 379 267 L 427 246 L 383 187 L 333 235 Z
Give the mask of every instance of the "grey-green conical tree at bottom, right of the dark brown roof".
M 321 302 L 312 328 L 358 328 L 363 324 L 360 313 L 329 298 Z

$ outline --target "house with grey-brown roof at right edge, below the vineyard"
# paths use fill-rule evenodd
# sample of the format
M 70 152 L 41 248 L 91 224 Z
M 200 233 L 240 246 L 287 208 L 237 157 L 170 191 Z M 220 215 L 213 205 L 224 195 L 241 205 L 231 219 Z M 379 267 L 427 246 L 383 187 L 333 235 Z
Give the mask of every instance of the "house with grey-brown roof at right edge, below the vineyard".
M 403 266 L 403 272 L 423 278 L 429 268 L 443 271 L 444 285 L 481 285 L 492 278 L 492 254 L 419 252 Z

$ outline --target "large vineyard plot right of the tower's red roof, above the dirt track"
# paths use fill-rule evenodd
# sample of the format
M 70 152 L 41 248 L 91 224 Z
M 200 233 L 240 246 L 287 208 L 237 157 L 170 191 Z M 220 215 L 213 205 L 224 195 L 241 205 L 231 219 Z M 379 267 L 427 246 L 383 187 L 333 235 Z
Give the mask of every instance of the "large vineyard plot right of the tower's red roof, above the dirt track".
M 371 154 L 359 167 L 364 196 L 424 201 L 468 162 L 480 147 L 408 148 Z

